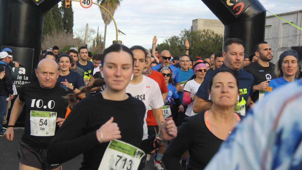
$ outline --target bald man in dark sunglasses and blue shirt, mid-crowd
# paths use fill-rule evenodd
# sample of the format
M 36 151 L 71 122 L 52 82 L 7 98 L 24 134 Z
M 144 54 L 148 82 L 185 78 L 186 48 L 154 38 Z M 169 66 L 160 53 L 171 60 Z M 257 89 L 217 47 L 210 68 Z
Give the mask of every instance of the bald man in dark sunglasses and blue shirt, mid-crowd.
M 178 73 L 177 67 L 174 67 L 170 64 L 171 54 L 168 50 L 164 50 L 160 53 L 160 60 L 162 61 L 161 64 L 152 67 L 152 70 L 158 71 L 160 67 L 170 67 L 173 72 L 173 85 L 175 86 L 176 90 L 179 91 L 180 88 L 180 75 Z

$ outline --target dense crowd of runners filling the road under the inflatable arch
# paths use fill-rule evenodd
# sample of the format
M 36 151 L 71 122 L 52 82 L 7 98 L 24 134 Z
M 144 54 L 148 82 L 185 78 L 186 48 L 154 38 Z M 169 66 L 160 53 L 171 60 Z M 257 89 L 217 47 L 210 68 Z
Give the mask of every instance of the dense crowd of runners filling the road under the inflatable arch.
M 14 140 L 26 108 L 19 169 L 64 169 L 79 154 L 79 168 L 89 170 L 144 169 L 146 161 L 158 170 L 162 164 L 169 170 L 302 168 L 294 159 L 302 147 L 296 51 L 273 64 L 267 42 L 245 54 L 243 41 L 229 38 L 223 52 L 193 60 L 188 40 L 179 56 L 159 51 L 156 36 L 152 43 L 151 51 L 113 44 L 93 56 L 86 47 L 48 48 L 18 96 L 9 66 L 13 51 L 3 49 L 0 136 Z M 290 104 L 295 109 L 289 111 Z

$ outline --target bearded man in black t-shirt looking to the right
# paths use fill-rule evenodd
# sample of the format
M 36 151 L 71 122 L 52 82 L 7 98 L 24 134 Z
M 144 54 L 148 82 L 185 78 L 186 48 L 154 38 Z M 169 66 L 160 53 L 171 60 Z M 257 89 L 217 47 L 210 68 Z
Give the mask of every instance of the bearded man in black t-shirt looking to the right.
M 244 67 L 254 77 L 252 101 L 262 99 L 265 94 L 268 83 L 271 79 L 277 78 L 274 73 L 275 64 L 269 62 L 271 60 L 271 47 L 267 42 L 261 41 L 254 47 L 257 62 L 253 62 Z

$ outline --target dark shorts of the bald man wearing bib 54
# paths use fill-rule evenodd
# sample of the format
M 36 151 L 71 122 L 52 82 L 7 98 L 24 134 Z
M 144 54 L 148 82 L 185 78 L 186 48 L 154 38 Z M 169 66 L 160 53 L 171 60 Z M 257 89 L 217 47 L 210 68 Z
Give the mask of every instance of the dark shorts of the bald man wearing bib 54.
M 48 164 L 46 163 L 47 149 L 35 148 L 27 145 L 22 140 L 19 144 L 19 162 L 24 165 L 31 166 L 43 170 L 51 170 L 58 168 L 62 164 Z

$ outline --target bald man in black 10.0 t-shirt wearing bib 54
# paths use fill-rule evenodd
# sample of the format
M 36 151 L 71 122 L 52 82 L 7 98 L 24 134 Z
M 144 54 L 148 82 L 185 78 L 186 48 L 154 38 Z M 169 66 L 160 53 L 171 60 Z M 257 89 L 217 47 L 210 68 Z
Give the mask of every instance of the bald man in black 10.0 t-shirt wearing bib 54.
M 4 136 L 8 141 L 14 140 L 14 124 L 26 105 L 25 129 L 18 152 L 19 170 L 59 170 L 61 164 L 46 162 L 47 148 L 65 120 L 67 102 L 62 96 L 73 92 L 57 83 L 59 71 L 54 60 L 41 60 L 35 73 L 37 82 L 20 87 Z

